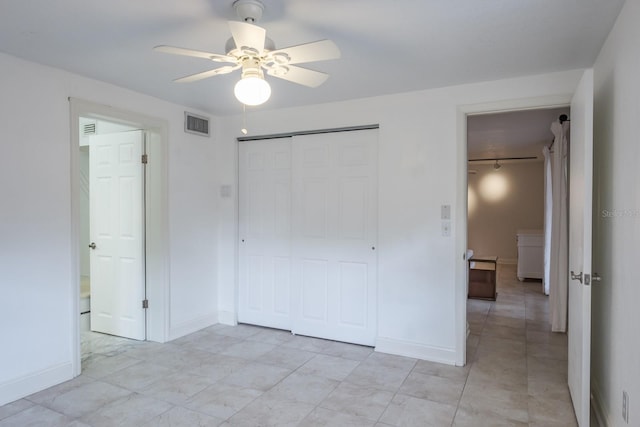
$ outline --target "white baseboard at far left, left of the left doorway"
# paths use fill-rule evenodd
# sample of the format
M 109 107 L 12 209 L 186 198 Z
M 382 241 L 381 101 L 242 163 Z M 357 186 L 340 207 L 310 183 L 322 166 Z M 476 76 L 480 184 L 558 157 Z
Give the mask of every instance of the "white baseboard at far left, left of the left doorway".
M 0 384 L 0 406 L 73 378 L 71 362 L 50 366 Z

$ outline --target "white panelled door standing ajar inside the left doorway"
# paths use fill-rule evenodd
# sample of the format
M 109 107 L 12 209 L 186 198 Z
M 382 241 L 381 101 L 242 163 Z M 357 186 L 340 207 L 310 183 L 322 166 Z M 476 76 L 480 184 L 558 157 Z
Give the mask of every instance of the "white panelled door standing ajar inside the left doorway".
M 91 330 L 145 339 L 143 132 L 90 140 Z

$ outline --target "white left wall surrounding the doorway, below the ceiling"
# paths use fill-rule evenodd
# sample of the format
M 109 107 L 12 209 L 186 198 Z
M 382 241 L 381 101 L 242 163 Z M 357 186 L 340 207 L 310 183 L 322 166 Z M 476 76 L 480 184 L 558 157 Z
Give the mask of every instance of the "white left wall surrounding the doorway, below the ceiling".
M 214 140 L 183 133 L 183 107 L 4 54 L 0 69 L 1 405 L 72 377 L 68 97 L 169 124 L 169 337 L 216 319 L 217 191 Z

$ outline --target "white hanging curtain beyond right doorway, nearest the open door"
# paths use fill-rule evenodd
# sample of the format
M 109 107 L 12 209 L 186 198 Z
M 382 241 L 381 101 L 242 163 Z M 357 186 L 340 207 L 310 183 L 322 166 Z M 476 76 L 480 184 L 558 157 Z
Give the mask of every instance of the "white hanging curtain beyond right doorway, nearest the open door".
M 549 303 L 551 331 L 567 331 L 567 294 L 569 290 L 569 233 L 567 211 L 567 128 L 569 123 L 551 124 L 554 135 L 551 161 L 553 210 L 551 220 L 551 262 L 549 269 Z

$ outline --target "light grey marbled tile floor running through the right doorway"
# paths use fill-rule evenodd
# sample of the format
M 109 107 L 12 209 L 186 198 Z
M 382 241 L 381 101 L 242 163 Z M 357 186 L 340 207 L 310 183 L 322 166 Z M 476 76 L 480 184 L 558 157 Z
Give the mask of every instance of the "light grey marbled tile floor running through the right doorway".
M 470 300 L 466 367 L 215 325 L 167 344 L 88 333 L 83 373 L 0 407 L 7 426 L 574 426 L 567 338 L 540 284 Z

